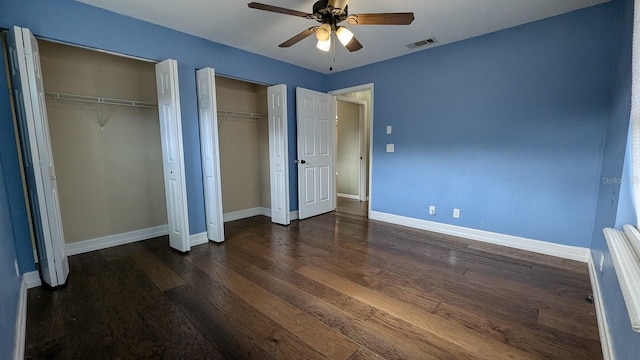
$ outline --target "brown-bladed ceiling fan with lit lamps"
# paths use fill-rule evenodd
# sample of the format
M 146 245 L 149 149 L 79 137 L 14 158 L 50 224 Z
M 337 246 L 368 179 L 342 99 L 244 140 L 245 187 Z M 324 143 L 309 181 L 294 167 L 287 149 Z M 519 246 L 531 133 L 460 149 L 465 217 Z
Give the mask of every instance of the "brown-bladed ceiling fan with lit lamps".
M 354 52 L 362 49 L 362 44 L 353 36 L 351 31 L 344 26 L 338 25 L 341 22 L 346 21 L 351 25 L 409 25 L 414 20 L 412 12 L 349 15 L 348 3 L 349 0 L 319 0 L 313 4 L 313 12 L 311 14 L 257 2 L 251 2 L 248 5 L 252 9 L 298 16 L 315 20 L 321 24 L 303 30 L 283 42 L 279 45 L 282 48 L 295 45 L 315 33 L 318 40 L 316 45 L 318 49 L 329 51 L 331 48 L 331 35 L 335 33 L 342 45 L 350 52 Z

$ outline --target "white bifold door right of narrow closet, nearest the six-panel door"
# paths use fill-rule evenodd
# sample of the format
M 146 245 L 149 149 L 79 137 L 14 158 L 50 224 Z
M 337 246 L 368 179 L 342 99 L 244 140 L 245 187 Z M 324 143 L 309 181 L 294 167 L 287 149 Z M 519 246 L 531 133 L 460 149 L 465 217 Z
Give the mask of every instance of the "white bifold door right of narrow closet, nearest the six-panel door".
M 267 88 L 269 117 L 269 178 L 271 221 L 289 225 L 289 145 L 287 133 L 287 86 Z

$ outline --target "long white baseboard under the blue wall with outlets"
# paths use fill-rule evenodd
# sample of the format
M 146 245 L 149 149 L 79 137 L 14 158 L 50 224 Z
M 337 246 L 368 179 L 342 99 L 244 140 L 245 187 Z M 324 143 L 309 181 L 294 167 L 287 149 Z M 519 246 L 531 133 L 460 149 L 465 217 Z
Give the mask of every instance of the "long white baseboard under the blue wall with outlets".
M 495 245 L 507 246 L 520 250 L 532 251 L 539 254 L 551 255 L 584 263 L 586 263 L 591 256 L 591 250 L 578 246 L 554 244 L 547 241 L 533 240 L 519 236 L 494 233 L 485 230 L 477 230 L 465 228 L 462 226 L 442 224 L 433 221 L 382 213 L 378 211 L 371 211 L 370 219 L 384 221 L 396 225 L 408 226 L 421 230 L 433 231 L 445 235 L 482 241 Z

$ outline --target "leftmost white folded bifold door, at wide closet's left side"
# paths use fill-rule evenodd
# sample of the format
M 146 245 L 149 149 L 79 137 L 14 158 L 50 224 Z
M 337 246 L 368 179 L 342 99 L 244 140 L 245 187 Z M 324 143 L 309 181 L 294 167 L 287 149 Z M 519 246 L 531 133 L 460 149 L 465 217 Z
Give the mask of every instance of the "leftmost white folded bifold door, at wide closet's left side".
M 10 75 L 22 146 L 27 193 L 36 237 L 40 274 L 49 286 L 63 285 L 69 274 L 64 231 L 38 42 L 29 29 L 13 27 L 8 36 Z

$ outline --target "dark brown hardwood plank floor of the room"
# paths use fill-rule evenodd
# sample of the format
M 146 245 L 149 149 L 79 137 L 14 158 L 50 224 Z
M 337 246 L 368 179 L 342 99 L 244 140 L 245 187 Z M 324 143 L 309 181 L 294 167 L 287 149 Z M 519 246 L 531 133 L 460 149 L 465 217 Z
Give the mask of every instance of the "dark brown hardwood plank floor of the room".
M 340 209 L 339 209 L 340 210 Z M 336 211 L 69 258 L 29 290 L 32 359 L 599 359 L 585 264 Z

